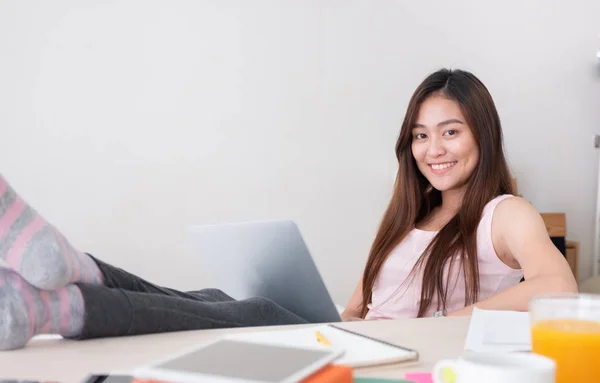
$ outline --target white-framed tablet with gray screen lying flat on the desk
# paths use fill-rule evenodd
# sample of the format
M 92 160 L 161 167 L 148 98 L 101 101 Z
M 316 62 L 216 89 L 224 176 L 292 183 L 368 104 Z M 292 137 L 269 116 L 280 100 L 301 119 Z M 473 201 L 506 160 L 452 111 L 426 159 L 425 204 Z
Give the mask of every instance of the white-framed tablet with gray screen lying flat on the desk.
M 343 354 L 334 348 L 297 348 L 231 339 L 188 350 L 134 371 L 167 382 L 298 382 Z

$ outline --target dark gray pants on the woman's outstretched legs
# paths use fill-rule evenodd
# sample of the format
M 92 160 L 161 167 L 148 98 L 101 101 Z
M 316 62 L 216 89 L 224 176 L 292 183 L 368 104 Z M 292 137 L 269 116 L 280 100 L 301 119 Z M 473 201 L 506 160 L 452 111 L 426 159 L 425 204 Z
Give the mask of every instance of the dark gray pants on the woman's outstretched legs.
M 77 339 L 307 323 L 265 298 L 235 300 L 216 289 L 181 292 L 92 259 L 104 285 L 77 284 L 85 304 Z

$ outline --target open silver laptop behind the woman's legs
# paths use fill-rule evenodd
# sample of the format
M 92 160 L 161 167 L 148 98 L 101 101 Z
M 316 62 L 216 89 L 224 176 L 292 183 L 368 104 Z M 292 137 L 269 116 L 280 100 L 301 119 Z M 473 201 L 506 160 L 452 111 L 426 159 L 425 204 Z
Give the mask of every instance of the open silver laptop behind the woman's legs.
M 210 287 L 238 300 L 269 298 L 311 323 L 341 321 L 293 221 L 195 226 L 189 232 L 215 281 Z

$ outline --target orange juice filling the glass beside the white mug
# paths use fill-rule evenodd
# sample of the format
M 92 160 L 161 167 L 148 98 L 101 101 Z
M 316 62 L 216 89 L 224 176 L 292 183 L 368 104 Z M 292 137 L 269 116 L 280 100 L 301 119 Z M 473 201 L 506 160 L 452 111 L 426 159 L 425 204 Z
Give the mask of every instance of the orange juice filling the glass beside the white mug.
M 600 322 L 541 320 L 531 337 L 533 352 L 556 363 L 556 383 L 600 382 Z

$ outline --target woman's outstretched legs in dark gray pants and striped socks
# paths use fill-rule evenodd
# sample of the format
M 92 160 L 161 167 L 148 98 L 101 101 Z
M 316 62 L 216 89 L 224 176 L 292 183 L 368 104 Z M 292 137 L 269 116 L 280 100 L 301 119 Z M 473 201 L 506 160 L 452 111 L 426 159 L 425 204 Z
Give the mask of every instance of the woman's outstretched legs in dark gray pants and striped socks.
M 154 285 L 76 250 L 0 175 L 0 350 L 72 339 L 302 324 L 273 301 Z

